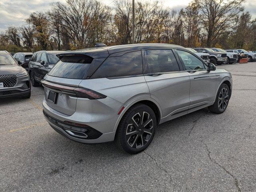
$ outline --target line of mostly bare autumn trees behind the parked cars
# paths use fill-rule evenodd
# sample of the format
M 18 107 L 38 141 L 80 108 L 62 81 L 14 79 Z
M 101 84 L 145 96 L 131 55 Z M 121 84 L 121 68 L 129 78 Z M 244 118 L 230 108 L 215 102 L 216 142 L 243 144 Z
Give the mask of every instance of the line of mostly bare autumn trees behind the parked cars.
M 158 1 L 135 4 L 135 43 L 168 43 L 184 47 L 256 50 L 256 19 L 244 11 L 244 0 L 193 0 L 179 11 Z M 132 42 L 132 1 L 112 6 L 96 0 L 54 2 L 33 12 L 21 27 L 0 33 L 0 50 L 76 50 Z

